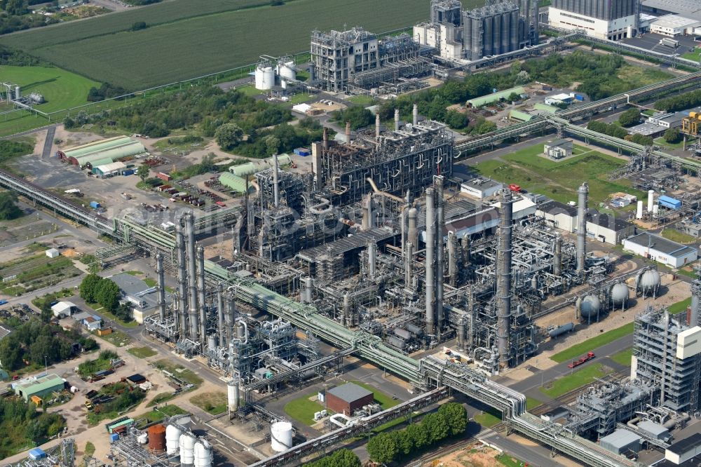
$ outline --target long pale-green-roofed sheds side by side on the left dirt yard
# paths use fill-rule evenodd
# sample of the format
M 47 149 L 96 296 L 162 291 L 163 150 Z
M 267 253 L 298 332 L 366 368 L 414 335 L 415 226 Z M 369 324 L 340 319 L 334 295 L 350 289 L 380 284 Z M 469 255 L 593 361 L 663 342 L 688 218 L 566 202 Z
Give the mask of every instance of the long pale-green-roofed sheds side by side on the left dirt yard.
M 141 142 L 132 140 L 128 136 L 117 136 L 63 149 L 57 151 L 56 155 L 67 163 L 92 169 L 97 165 L 113 163 L 120 158 L 145 153 L 146 148 Z

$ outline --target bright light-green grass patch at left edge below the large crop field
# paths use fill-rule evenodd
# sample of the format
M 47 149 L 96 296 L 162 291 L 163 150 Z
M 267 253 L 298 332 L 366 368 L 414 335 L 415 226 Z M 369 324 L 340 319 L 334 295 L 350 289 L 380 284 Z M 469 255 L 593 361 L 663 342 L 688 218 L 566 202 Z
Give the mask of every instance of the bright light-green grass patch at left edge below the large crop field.
M 82 22 L 82 21 L 81 21 Z M 41 93 L 46 103 L 36 106 L 37 110 L 50 113 L 86 104 L 88 90 L 99 83 L 67 72 L 60 68 L 51 67 L 0 67 L 0 81 L 10 81 L 22 88 L 22 95 Z M 51 123 L 42 116 L 34 116 L 29 112 L 18 111 L 0 119 L 0 136 L 12 135 L 30 128 Z

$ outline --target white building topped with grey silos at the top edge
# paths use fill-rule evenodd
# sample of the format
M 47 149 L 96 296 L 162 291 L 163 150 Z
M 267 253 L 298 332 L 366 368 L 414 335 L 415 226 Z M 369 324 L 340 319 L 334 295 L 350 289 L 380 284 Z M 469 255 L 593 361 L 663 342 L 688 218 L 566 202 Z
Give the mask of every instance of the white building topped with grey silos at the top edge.
M 552 27 L 614 41 L 635 36 L 639 17 L 640 0 L 553 0 L 548 11 Z

